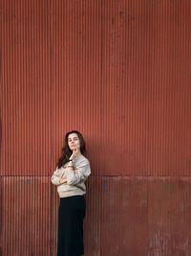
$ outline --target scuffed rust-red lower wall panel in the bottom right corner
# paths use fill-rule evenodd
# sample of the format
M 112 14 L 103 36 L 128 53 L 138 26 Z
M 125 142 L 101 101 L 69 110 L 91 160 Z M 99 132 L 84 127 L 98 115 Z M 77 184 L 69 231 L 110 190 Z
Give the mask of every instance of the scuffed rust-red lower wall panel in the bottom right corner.
M 191 255 L 190 177 L 149 177 L 149 255 Z

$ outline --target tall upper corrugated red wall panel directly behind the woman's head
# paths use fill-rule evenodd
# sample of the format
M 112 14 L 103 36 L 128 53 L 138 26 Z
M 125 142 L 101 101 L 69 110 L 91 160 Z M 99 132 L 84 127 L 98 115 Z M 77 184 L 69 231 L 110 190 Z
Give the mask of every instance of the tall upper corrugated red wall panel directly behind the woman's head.
M 98 173 L 101 1 L 53 1 L 52 29 L 53 159 L 61 152 L 64 133 L 78 129 L 86 138 L 94 171 Z

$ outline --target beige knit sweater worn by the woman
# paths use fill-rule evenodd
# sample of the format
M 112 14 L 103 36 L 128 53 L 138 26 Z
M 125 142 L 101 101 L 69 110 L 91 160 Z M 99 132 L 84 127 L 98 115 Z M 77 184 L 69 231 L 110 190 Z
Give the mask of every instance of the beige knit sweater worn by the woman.
M 73 163 L 74 170 L 67 168 L 67 163 L 60 169 L 56 168 L 53 173 L 51 180 L 54 185 L 57 185 L 60 198 L 86 194 L 85 181 L 91 174 L 89 160 L 83 154 L 80 154 L 74 159 Z M 61 177 L 66 177 L 67 183 L 60 184 Z

